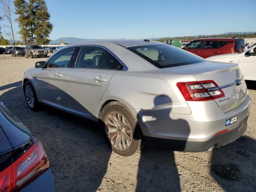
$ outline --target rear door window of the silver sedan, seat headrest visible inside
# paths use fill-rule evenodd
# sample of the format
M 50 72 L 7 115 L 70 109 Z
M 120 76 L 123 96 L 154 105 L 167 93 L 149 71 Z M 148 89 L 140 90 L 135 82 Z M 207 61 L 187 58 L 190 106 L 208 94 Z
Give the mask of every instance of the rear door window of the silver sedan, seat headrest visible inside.
M 78 55 L 76 68 L 98 68 L 104 49 L 82 47 Z

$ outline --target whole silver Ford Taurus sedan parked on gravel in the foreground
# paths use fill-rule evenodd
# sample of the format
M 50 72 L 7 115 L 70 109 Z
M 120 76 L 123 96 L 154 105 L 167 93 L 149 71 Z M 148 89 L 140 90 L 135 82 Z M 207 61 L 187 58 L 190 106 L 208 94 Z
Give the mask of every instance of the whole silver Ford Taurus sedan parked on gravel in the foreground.
M 103 122 L 122 156 L 144 143 L 208 151 L 247 128 L 250 97 L 237 64 L 208 62 L 156 41 L 65 46 L 26 70 L 22 84 L 32 110 L 43 103 Z

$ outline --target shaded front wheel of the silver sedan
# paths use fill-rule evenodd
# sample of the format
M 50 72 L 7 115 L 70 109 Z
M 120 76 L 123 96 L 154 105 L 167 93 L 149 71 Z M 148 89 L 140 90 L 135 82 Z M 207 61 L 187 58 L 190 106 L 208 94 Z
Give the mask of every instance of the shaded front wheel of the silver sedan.
M 30 81 L 27 81 L 24 85 L 24 96 L 28 107 L 31 110 L 36 111 L 39 109 L 39 102 L 36 96 L 36 91 Z

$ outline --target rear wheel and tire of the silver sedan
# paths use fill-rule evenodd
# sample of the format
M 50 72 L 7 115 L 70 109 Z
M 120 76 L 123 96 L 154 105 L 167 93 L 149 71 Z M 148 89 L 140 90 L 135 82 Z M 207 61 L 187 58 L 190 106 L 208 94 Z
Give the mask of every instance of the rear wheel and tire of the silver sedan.
M 112 150 L 121 156 L 131 156 L 142 149 L 142 132 L 132 112 L 118 102 L 102 110 L 105 138 Z

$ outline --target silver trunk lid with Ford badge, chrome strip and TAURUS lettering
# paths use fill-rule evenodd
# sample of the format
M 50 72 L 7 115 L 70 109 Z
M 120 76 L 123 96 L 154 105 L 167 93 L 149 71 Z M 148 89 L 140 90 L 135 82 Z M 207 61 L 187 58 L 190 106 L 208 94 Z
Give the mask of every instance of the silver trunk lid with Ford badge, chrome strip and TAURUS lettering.
M 213 80 L 218 86 L 225 86 L 222 88 L 225 96 L 215 100 L 222 112 L 228 112 L 242 104 L 246 99 L 247 87 L 238 65 L 214 62 L 209 62 L 208 65 L 216 65 L 217 70 L 201 72 L 193 76 L 197 81 Z M 240 83 L 236 84 L 236 80 L 240 80 Z

